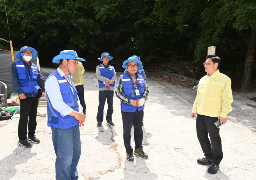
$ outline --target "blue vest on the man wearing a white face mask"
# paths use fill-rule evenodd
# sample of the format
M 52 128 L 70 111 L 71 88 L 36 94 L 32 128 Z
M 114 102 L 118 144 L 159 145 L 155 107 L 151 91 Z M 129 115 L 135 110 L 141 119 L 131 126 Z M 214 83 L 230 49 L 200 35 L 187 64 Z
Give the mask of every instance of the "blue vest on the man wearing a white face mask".
M 30 74 L 23 64 L 22 60 L 16 61 L 16 69 L 18 72 L 19 86 L 24 94 L 37 93 L 40 88 L 37 82 L 38 70 L 35 64 L 31 63 Z

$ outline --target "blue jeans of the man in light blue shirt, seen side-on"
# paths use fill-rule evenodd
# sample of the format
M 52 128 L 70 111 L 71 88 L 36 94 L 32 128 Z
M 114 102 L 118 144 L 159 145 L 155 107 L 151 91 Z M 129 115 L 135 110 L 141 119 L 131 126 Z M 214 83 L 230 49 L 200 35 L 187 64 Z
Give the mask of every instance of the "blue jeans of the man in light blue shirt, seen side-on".
M 81 155 L 79 126 L 69 129 L 52 129 L 52 140 L 56 154 L 56 180 L 77 180 L 76 166 Z

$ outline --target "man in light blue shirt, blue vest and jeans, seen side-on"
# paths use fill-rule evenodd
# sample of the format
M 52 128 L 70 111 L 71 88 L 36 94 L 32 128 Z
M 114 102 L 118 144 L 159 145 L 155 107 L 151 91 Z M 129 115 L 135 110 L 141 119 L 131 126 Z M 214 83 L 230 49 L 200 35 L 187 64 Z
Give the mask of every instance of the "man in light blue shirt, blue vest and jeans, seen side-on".
M 57 71 L 45 80 L 47 125 L 52 129 L 57 180 L 78 179 L 76 166 L 81 155 L 79 123 L 83 125 L 85 115 L 70 74 L 78 68 L 79 60 L 85 61 L 75 51 L 61 51 L 53 58 L 53 63 L 60 63 Z

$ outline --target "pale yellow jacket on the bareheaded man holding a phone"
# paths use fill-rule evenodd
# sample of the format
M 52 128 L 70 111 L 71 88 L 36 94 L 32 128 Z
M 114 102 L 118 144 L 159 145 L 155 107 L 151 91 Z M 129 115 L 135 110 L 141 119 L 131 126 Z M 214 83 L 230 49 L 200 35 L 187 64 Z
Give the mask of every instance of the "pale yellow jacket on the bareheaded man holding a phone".
M 217 70 L 210 77 L 205 75 L 198 84 L 193 113 L 210 117 L 227 117 L 233 102 L 231 80 Z

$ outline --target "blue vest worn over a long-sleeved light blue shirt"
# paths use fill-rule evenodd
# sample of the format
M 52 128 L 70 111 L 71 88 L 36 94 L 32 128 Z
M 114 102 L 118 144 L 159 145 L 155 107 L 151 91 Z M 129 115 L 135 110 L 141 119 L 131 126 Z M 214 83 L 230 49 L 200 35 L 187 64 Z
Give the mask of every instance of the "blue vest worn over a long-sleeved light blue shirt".
M 78 95 L 77 95 L 76 89 L 73 87 L 73 91 L 75 93 L 73 94 L 72 89 L 68 84 L 68 82 L 63 77 L 61 77 L 57 71 L 50 74 L 47 78 L 49 78 L 51 75 L 54 75 L 59 82 L 63 101 L 70 108 L 79 112 Z M 47 93 L 46 93 L 46 98 L 47 98 L 48 127 L 68 129 L 68 128 L 75 127 L 79 124 L 78 120 L 74 116 L 69 116 L 69 115 L 66 115 L 64 117 L 61 116 L 61 114 L 53 108 Z

